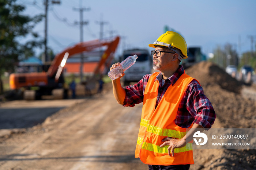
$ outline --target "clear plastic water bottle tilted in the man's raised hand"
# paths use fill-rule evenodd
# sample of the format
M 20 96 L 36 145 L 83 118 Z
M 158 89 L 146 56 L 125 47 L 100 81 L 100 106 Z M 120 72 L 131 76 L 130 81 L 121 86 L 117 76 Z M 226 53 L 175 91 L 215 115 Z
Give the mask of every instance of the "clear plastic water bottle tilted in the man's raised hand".
M 127 57 L 124 61 L 120 63 L 116 68 L 111 70 L 108 73 L 109 78 L 111 80 L 115 80 L 118 76 L 120 76 L 125 70 L 127 70 L 129 67 L 131 67 L 135 62 L 136 59 L 138 58 L 137 55 L 131 55 Z

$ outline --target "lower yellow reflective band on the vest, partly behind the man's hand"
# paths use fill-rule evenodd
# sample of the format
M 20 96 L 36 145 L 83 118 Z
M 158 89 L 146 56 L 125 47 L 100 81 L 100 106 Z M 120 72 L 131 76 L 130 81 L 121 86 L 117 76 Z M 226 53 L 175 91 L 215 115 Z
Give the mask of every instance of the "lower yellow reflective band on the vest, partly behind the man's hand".
M 142 149 L 152 151 L 155 153 L 168 153 L 168 147 L 169 146 L 160 147 L 155 144 L 147 143 L 147 142 L 143 142 L 142 144 Z M 192 143 L 188 143 L 184 147 L 174 149 L 174 153 L 185 152 L 185 151 L 192 151 Z

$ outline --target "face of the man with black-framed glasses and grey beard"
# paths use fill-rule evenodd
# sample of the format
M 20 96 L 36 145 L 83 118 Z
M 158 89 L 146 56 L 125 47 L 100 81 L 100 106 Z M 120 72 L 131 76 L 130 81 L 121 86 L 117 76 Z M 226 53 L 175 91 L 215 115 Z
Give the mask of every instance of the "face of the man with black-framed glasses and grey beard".
M 162 48 L 162 47 L 155 47 L 155 51 L 156 50 L 171 52 L 170 50 Z M 170 67 L 172 67 L 172 58 L 173 58 L 172 53 L 161 52 L 161 55 L 159 57 L 157 57 L 157 55 L 154 54 L 153 55 L 153 69 L 159 70 L 161 72 L 163 70 L 170 69 Z

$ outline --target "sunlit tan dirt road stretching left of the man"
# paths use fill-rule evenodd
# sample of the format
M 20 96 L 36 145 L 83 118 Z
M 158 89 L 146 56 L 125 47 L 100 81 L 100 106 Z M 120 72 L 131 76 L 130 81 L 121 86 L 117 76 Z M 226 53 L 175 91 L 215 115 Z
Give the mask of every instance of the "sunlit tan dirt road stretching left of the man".
M 142 105 L 85 99 L 0 143 L 1 170 L 147 169 L 134 158 Z

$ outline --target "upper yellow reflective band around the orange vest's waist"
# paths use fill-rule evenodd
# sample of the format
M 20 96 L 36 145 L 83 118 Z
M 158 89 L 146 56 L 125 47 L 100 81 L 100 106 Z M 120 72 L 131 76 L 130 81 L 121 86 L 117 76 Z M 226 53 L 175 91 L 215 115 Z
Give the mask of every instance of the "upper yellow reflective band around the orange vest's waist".
M 153 125 L 148 125 L 148 121 L 146 119 L 141 119 L 140 121 L 140 125 L 147 127 L 147 131 L 151 132 L 153 134 L 157 134 L 160 136 L 168 136 L 171 138 L 178 138 L 181 139 L 186 135 L 186 132 L 179 132 L 176 130 L 170 130 L 170 129 L 163 129 L 163 128 L 159 128 L 157 126 L 153 126 Z M 148 125 L 148 126 L 147 126 Z

